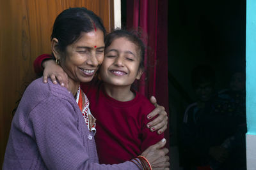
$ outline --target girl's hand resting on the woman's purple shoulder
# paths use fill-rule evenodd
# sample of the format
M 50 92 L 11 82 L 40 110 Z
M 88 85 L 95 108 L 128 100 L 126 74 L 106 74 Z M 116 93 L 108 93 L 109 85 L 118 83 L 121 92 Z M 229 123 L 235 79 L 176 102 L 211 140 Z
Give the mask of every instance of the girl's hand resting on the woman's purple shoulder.
M 54 60 L 45 60 L 42 66 L 44 67 L 44 83 L 47 83 L 47 79 L 50 77 L 52 83 L 60 83 L 62 87 L 68 88 L 68 75 Z

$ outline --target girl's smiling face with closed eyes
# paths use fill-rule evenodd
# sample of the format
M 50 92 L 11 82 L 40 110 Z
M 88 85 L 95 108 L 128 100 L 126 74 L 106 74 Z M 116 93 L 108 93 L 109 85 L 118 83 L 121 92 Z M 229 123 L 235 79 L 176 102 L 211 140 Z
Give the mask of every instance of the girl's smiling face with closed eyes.
M 137 46 L 129 39 L 121 37 L 113 40 L 106 49 L 100 78 L 104 83 L 115 86 L 131 87 L 136 79 L 143 73 L 140 67 L 140 55 Z

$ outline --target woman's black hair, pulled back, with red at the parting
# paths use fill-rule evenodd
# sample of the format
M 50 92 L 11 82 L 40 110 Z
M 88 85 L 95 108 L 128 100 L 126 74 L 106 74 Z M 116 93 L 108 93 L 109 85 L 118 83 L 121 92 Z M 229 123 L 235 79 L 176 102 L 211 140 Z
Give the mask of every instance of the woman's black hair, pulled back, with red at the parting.
M 64 52 L 68 45 L 79 38 L 81 32 L 90 32 L 95 29 L 100 29 L 104 36 L 106 35 L 106 29 L 101 18 L 95 15 L 93 11 L 83 7 L 68 8 L 56 18 L 51 39 L 58 39 L 58 48 L 61 52 Z

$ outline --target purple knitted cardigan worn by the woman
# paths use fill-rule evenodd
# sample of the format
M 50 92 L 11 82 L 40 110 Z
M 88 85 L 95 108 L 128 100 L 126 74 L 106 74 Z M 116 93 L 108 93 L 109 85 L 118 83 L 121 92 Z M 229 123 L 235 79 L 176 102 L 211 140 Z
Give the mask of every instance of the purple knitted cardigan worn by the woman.
M 93 102 L 93 101 L 91 101 Z M 118 153 L 116 153 L 118 154 Z M 12 120 L 3 169 L 138 169 L 98 163 L 93 134 L 65 87 L 33 81 Z

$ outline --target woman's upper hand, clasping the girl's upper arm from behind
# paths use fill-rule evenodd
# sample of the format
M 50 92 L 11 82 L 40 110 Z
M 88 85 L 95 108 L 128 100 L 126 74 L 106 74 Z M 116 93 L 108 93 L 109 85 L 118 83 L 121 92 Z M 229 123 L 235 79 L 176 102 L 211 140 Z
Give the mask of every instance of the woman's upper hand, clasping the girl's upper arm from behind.
M 150 102 L 156 106 L 156 108 L 151 111 L 147 118 L 151 119 L 154 116 L 158 115 L 154 120 L 148 122 L 147 127 L 150 128 L 150 131 L 157 131 L 158 134 L 163 133 L 167 129 L 168 116 L 163 106 L 157 104 L 156 98 L 154 96 L 150 97 Z

